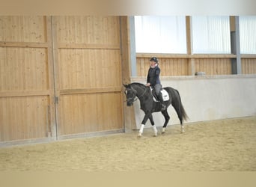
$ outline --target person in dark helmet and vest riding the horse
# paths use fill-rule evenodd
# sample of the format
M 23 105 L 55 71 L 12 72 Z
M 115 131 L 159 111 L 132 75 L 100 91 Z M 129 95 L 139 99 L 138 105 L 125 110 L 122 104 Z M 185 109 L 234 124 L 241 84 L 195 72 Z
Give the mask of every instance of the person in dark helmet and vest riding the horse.
M 159 101 L 162 104 L 162 111 L 166 109 L 165 103 L 162 99 L 162 93 L 161 93 L 161 82 L 160 82 L 160 68 L 158 66 L 158 59 L 156 57 L 150 58 L 150 68 L 147 73 L 147 84 L 146 86 L 151 86 L 152 88 L 155 88 L 156 96 L 158 97 Z

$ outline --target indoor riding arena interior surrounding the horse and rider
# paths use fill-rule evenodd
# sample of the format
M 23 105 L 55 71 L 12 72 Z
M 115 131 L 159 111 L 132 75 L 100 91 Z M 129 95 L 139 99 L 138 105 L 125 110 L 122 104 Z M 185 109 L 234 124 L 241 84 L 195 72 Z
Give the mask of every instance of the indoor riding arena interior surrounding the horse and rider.
M 255 43 L 256 16 L 0 16 L 0 171 L 256 171 Z M 169 106 L 138 136 L 152 57 L 184 132 Z

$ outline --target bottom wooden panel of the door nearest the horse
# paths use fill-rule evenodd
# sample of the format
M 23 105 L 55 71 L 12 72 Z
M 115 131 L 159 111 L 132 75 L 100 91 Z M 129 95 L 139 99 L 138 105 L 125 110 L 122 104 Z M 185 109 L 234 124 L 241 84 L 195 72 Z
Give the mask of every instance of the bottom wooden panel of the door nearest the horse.
M 121 129 L 121 94 L 87 93 L 62 95 L 60 135 Z

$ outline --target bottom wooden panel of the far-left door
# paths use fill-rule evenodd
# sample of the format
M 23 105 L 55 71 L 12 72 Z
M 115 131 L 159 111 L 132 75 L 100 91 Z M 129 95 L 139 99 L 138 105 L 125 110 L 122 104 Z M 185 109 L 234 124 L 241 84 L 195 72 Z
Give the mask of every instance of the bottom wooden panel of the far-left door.
M 49 96 L 0 97 L 0 141 L 46 138 Z

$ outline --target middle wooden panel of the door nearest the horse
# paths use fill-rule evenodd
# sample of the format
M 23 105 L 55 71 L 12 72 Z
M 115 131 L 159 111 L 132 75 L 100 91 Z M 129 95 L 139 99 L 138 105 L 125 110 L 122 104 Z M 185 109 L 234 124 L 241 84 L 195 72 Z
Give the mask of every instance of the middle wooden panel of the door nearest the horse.
M 60 89 L 121 86 L 120 51 L 115 49 L 59 49 Z

